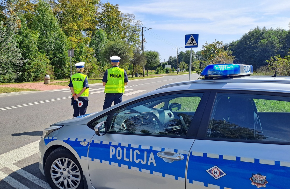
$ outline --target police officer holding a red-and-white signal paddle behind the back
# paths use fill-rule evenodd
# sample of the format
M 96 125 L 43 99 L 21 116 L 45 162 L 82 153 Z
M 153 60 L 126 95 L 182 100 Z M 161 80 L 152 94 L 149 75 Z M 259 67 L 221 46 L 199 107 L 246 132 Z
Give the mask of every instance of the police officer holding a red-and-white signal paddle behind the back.
M 89 96 L 89 84 L 88 84 L 88 76 L 83 74 L 84 71 L 84 62 L 76 63 L 77 73 L 72 75 L 70 78 L 70 91 L 72 92 L 73 97 L 72 105 L 73 105 L 73 116 L 81 116 L 86 114 L 88 107 L 88 96 Z M 81 107 L 78 107 L 77 100 L 83 102 Z

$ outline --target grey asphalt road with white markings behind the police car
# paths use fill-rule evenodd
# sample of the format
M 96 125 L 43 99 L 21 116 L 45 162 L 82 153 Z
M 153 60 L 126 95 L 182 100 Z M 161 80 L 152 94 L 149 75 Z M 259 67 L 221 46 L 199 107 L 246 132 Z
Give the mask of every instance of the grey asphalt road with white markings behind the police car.
M 191 74 L 191 80 L 198 76 Z M 188 78 L 186 74 L 130 80 L 123 101 Z M 46 127 L 73 117 L 70 98 L 69 89 L 0 96 L 0 189 L 50 188 L 38 168 L 38 143 Z M 90 84 L 87 113 L 101 111 L 104 98 L 102 84 Z

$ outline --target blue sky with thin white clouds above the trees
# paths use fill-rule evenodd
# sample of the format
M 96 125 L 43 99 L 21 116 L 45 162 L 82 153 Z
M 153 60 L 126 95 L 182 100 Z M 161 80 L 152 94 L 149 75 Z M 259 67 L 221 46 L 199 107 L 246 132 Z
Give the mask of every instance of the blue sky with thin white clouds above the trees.
M 289 0 L 101 0 L 107 1 L 142 22 L 144 51 L 158 51 L 160 62 L 190 50 L 188 34 L 198 34 L 197 52 L 206 42 L 230 43 L 257 26 L 289 30 L 290 23 Z

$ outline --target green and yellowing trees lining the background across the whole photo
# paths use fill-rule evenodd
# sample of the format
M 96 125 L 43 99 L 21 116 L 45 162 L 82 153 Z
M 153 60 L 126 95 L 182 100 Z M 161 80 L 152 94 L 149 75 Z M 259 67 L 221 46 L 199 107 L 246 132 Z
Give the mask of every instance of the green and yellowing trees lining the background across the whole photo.
M 119 5 L 99 0 L 7 0 L 0 1 L 0 83 L 41 81 L 70 77 L 72 65 L 86 62 L 89 78 L 102 77 L 110 56 L 122 59 L 123 69 L 134 76 L 143 68 L 156 70 L 157 51 L 142 51 L 140 20 L 123 13 Z M 228 44 L 206 42 L 193 52 L 192 69 L 207 64 L 251 64 L 261 74 L 290 75 L 290 30 L 250 30 Z M 189 69 L 190 51 L 170 56 L 164 66 Z M 162 71 L 161 67 L 161 71 Z M 171 70 L 170 70 L 171 71 Z

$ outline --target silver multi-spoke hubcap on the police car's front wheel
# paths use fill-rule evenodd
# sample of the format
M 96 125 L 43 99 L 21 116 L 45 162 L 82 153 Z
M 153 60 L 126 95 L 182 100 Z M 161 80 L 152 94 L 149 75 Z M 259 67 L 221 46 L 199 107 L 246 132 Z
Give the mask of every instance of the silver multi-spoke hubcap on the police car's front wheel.
M 51 165 L 50 176 L 60 189 L 76 189 L 81 181 L 79 168 L 68 158 L 56 159 Z

